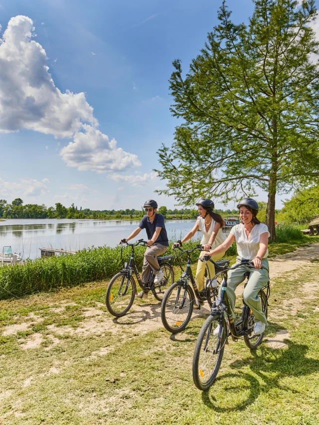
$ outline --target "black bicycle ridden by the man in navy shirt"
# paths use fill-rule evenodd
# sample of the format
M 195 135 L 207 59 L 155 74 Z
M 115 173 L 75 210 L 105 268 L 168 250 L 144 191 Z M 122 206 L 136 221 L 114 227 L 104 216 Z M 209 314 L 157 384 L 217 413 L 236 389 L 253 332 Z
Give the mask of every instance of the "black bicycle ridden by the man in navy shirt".
M 143 239 L 136 243 L 128 243 L 126 239 L 122 239 L 121 244 L 121 260 L 123 262 L 123 247 L 130 246 L 132 254 L 129 263 L 124 264 L 124 268 L 117 273 L 110 281 L 105 296 L 105 304 L 111 315 L 115 317 L 125 316 L 131 309 L 136 295 L 136 283 L 133 272 L 136 275 L 138 284 L 145 292 L 152 291 L 154 297 L 158 301 L 162 301 L 165 289 L 174 282 L 174 270 L 170 265 L 173 258 L 172 255 L 158 257 L 160 269 L 164 273 L 164 277 L 159 283 L 154 283 L 155 274 L 151 270 L 150 280 L 146 284 L 141 281 L 141 276 L 137 265 L 134 261 L 134 248 L 138 245 L 148 246 Z

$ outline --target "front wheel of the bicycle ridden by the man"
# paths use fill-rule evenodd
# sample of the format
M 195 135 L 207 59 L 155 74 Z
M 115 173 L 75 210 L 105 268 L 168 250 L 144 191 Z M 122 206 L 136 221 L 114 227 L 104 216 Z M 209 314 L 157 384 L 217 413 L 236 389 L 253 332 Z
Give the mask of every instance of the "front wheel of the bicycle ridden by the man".
M 136 293 L 133 276 L 127 272 L 116 274 L 106 290 L 105 304 L 111 315 L 120 318 L 127 314 L 132 307 Z

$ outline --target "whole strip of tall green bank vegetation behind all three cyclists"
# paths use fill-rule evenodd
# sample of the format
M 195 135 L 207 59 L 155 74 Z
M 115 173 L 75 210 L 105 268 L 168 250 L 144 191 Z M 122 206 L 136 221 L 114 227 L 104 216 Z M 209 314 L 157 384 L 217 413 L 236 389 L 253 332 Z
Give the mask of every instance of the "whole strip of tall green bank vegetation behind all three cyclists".
M 278 254 L 294 251 L 297 247 L 307 243 L 319 241 L 319 236 L 303 235 L 298 228 L 281 227 L 277 232 L 278 240 L 269 245 L 269 258 Z M 173 240 L 176 240 L 174 238 Z M 199 239 L 190 240 L 183 246 L 195 247 Z M 141 270 L 143 265 L 145 247 L 138 246 L 135 249 L 135 262 Z M 168 247 L 166 255 L 175 254 Z M 87 282 L 101 281 L 112 277 L 123 267 L 123 262 L 128 262 L 131 249 L 123 250 L 121 260 L 121 248 L 108 246 L 83 249 L 75 255 L 54 256 L 25 260 L 23 264 L 13 266 L 3 265 L 0 267 L 0 299 L 23 297 L 28 294 L 41 291 L 59 290 L 65 287 L 82 285 Z M 235 260 L 235 243 L 227 250 L 225 258 Z M 196 267 L 198 251 L 194 251 L 191 259 L 193 268 Z M 184 262 L 186 257 L 183 257 Z M 177 262 L 175 265 L 177 266 Z M 176 268 L 176 276 L 178 276 Z

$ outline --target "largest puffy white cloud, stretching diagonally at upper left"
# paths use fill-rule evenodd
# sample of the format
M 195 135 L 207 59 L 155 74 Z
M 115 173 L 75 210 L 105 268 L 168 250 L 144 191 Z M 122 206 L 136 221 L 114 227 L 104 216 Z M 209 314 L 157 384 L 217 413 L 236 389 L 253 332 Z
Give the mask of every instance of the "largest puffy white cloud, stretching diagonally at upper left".
M 0 39 L 0 132 L 22 128 L 73 138 L 60 154 L 69 167 L 98 173 L 141 165 L 98 130 L 84 93 L 62 93 L 48 72 L 43 47 L 27 16 L 12 17 Z M 48 146 L 45 147 L 48 149 Z

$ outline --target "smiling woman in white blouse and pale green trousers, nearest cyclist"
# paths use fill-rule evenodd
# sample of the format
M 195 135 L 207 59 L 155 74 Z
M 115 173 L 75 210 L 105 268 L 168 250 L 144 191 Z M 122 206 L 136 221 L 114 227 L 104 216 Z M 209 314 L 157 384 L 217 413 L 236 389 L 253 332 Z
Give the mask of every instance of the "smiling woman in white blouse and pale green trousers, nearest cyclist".
M 245 272 L 250 272 L 249 280 L 243 292 L 243 299 L 252 310 L 255 317 L 255 334 L 264 332 L 267 326 L 267 319 L 262 311 L 261 300 L 258 292 L 267 285 L 269 280 L 268 264 L 268 238 L 270 233 L 266 224 L 262 224 L 256 215 L 258 213 L 258 204 L 251 198 L 243 199 L 237 205 L 239 209 L 241 224 L 237 224 L 230 230 L 227 239 L 217 248 L 209 252 L 209 255 L 224 253 L 230 245 L 236 241 L 237 262 L 242 258 L 254 263 L 255 269 L 247 266 L 238 269 L 229 270 L 227 279 L 227 295 L 233 309 L 235 306 L 237 286 L 244 281 Z

